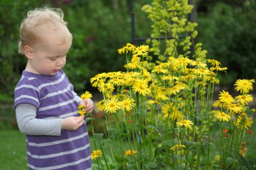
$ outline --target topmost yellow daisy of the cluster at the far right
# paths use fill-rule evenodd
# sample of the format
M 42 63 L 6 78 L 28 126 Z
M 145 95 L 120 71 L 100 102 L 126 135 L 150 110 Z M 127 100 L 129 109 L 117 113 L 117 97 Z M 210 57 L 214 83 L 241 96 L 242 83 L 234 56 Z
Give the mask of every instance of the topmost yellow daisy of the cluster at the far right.
M 253 83 L 255 83 L 254 79 L 238 79 L 234 85 L 236 86 L 234 89 L 236 91 L 240 91 L 240 93 L 249 93 L 249 91 L 253 90 Z

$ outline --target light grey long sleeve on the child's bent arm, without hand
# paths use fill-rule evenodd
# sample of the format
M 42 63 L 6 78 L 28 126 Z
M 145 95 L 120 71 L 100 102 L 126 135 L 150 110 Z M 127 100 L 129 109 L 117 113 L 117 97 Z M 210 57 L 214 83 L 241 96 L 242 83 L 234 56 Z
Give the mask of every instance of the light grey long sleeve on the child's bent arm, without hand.
M 29 103 L 20 103 L 15 107 L 16 119 L 20 131 L 28 135 L 61 135 L 61 118 L 38 119 L 36 106 Z

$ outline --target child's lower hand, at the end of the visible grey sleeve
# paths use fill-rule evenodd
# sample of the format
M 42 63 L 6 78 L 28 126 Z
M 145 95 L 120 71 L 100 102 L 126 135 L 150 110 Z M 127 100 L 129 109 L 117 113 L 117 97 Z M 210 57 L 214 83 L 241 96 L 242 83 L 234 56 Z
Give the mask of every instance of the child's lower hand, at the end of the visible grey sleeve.
M 84 116 L 71 116 L 61 120 L 61 129 L 75 131 L 84 124 Z

